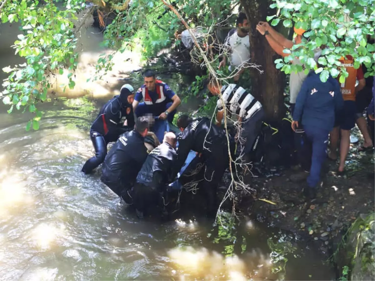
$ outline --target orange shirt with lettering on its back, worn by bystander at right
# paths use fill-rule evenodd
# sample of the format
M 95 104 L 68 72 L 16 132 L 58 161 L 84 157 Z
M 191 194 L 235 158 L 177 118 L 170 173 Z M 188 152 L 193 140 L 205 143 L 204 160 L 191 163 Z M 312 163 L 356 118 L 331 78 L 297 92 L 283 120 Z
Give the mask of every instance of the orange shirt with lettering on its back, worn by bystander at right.
M 356 101 L 356 81 L 357 81 L 357 71 L 353 66 L 354 60 L 351 56 L 347 56 L 347 59 L 341 57 L 339 62 L 342 66 L 346 68 L 349 76 L 345 79 L 344 83 L 340 84 L 342 98 L 344 101 Z M 338 79 L 340 76 L 338 77 Z

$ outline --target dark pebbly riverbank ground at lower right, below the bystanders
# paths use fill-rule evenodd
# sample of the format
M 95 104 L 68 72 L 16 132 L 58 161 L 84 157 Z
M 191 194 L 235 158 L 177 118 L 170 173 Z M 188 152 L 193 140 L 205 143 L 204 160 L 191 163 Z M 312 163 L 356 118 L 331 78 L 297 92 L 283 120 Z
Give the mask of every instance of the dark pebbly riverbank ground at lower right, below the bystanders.
M 287 170 L 282 176 L 267 179 L 248 177 L 246 182 L 256 193 L 239 196 L 238 209 L 260 222 L 293 231 L 318 246 L 328 258 L 359 215 L 375 210 L 375 184 L 368 178 L 368 173 L 375 171 L 375 158 L 372 153 L 357 152 L 358 147 L 359 143 L 351 145 L 344 176 L 337 175 L 335 162 L 328 163 L 315 200 L 305 200 L 303 182 L 291 182 L 294 171 Z

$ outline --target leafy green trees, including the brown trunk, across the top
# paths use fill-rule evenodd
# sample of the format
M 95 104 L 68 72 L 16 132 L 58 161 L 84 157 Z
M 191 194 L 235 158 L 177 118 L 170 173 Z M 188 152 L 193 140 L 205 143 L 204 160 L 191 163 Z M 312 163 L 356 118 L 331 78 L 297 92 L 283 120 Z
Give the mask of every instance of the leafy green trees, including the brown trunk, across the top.
M 172 1 L 168 5 L 176 9 L 190 28 L 202 27 L 204 36 L 199 44 L 205 53 L 195 50 L 195 54 L 197 57 L 207 56 L 209 63 L 213 65 L 217 65 L 219 54 L 210 46 L 220 47 L 215 34 L 225 26 L 234 26 L 236 15 L 232 14 L 235 8 L 243 9 L 248 14 L 252 62 L 261 65 L 265 71 L 264 75 L 256 70 L 250 72 L 252 84 L 257 85 L 253 87 L 254 95 L 263 100 L 269 117 L 277 117 L 275 112 L 280 115 L 282 110 L 275 108 L 282 107 L 285 86 L 281 73 L 302 70 L 302 66 L 290 64 L 294 57 L 298 57 L 305 65 L 306 72 L 314 69 L 320 73 L 322 80 L 332 75 L 339 77 L 341 83 L 344 82 L 348 73 L 340 68 L 338 60 L 345 55 L 354 57 L 356 68 L 361 63 L 366 65 L 369 69 L 366 75 L 375 74 L 375 44 L 368 43 L 368 36 L 374 35 L 374 2 L 181 0 Z M 39 127 L 38 121 L 42 114 L 37 110 L 37 104 L 46 100 L 51 88 L 51 77 L 55 73 L 66 73 L 69 78 L 66 87 L 74 88 L 74 71 L 78 64 L 75 49 L 83 26 L 77 19 L 77 13 L 91 14 L 94 9 L 98 9 L 99 21 L 103 25 L 105 15 L 109 12 L 115 15 L 104 32 L 104 44 L 107 47 L 118 51 L 138 49 L 144 59 L 147 59 L 156 56 L 162 48 L 172 47 L 173 50 L 173 47 L 180 45 L 180 34 L 185 27 L 162 1 L 93 0 L 90 3 L 84 0 L 3 0 L 0 6 L 1 22 L 21 23 L 20 34 L 13 48 L 19 56 L 26 59 L 26 63 L 3 69 L 9 73 L 9 77 L 3 83 L 5 90 L 2 99 L 5 104 L 9 104 L 9 113 L 14 109 L 35 113 L 34 119 L 27 124 L 27 129 L 31 126 L 34 129 Z M 291 50 L 284 50 L 291 55 L 281 59 L 275 56 L 263 36 L 255 30 L 259 20 L 269 21 L 285 34 L 293 26 L 308 32 L 305 33 L 302 44 L 294 45 Z M 318 47 L 324 47 L 319 59 L 320 67 L 312 59 L 313 50 Z M 112 58 L 112 55 L 108 55 L 98 60 L 97 77 L 111 69 Z M 64 72 L 64 69 L 68 71 Z M 218 75 L 224 80 L 227 77 L 224 72 Z M 267 84 L 270 75 L 281 75 L 278 83 Z

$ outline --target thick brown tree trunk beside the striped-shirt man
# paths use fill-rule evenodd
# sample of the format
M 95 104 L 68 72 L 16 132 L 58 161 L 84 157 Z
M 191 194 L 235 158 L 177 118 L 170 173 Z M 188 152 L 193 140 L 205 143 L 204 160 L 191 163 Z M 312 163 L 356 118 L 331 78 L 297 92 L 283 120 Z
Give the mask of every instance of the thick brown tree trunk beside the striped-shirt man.
M 252 94 L 260 99 L 266 112 L 266 118 L 276 120 L 285 114 L 284 88 L 285 74 L 275 68 L 275 60 L 280 58 L 272 50 L 257 30 L 259 21 L 266 21 L 268 15 L 276 14 L 276 10 L 270 9 L 271 0 L 240 0 L 248 16 L 250 25 L 251 62 L 260 65 L 263 74 L 256 69 L 251 69 Z

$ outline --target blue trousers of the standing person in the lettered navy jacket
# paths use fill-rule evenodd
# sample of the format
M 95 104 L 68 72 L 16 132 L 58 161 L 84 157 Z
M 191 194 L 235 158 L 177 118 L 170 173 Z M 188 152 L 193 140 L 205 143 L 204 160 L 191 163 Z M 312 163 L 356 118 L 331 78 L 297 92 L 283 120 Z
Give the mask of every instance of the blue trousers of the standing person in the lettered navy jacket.
M 324 161 L 327 159 L 327 144 L 329 132 L 313 126 L 305 126 L 306 137 L 311 143 L 312 157 L 310 175 L 307 178 L 308 186 L 317 188 Z

